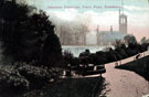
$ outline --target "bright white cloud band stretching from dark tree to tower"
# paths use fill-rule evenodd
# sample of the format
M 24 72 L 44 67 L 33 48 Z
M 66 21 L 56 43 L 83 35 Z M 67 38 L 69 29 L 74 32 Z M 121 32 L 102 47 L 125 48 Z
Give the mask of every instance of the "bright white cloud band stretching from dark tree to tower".
M 92 10 L 79 13 L 75 9 L 65 10 L 65 11 L 47 11 L 47 14 L 57 21 L 77 21 L 78 23 L 84 23 L 94 30 L 100 25 L 100 28 L 114 25 L 117 29 L 118 26 L 118 12 L 117 11 L 105 11 L 105 12 L 95 12 Z

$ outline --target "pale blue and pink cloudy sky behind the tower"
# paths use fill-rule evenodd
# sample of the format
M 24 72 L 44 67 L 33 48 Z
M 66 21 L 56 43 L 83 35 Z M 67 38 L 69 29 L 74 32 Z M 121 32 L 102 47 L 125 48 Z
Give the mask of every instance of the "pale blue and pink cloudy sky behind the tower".
M 139 41 L 149 37 L 149 0 L 28 0 L 50 17 L 63 21 L 84 21 L 91 32 L 118 31 L 119 9 L 128 17 L 128 33 Z

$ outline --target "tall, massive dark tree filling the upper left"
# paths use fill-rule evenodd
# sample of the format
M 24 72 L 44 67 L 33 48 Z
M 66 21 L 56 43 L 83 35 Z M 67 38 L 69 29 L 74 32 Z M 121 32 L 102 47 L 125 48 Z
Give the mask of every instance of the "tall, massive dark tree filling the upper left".
M 13 62 L 35 61 L 41 65 L 54 65 L 62 56 L 57 36 L 45 12 L 32 7 L 7 1 L 0 10 L 4 21 L 0 31 L 3 54 Z M 44 61 L 45 58 L 45 61 Z

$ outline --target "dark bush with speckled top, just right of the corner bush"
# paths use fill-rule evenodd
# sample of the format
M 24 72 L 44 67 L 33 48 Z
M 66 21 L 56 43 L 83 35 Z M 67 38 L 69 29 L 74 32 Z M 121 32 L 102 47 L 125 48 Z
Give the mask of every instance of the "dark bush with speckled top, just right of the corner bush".
M 30 82 L 30 88 L 41 88 L 46 84 L 54 74 L 46 67 L 31 66 L 29 64 L 22 63 L 21 65 L 15 65 L 21 76 Z

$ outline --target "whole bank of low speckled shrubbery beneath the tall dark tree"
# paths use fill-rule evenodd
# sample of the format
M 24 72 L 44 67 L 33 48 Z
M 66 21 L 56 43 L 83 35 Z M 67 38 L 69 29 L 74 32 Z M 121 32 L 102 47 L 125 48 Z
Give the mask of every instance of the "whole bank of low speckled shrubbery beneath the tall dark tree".
M 0 66 L 0 94 L 19 95 L 24 91 L 42 88 L 45 84 L 50 83 L 50 79 L 56 79 L 57 75 L 57 71 L 49 69 L 45 66 L 32 66 L 26 63 L 3 65 Z

